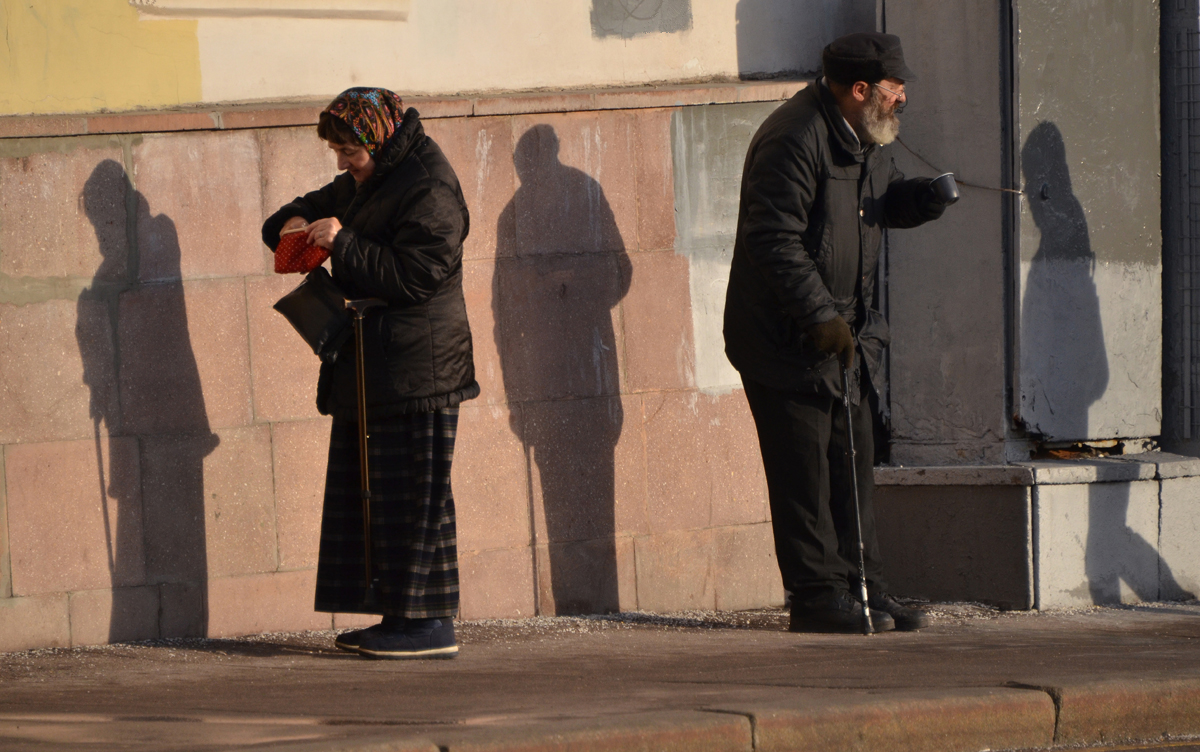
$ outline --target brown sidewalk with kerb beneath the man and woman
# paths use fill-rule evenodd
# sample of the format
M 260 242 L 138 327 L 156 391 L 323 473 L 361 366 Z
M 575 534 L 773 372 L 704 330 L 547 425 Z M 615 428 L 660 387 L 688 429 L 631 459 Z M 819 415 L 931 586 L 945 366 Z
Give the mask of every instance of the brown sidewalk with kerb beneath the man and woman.
M 1200 604 L 935 606 L 932 627 L 790 634 L 778 610 L 460 625 L 455 661 L 332 633 L 0 657 L 0 748 L 920 750 L 1200 735 Z

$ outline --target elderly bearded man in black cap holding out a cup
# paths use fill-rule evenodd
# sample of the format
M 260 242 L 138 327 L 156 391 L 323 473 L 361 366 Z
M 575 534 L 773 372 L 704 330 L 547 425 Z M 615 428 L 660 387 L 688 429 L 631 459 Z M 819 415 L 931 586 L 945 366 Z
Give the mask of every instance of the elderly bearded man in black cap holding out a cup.
M 905 180 L 888 148 L 906 82 L 916 78 L 900 40 L 844 36 L 822 64 L 824 76 L 772 113 L 750 143 L 725 351 L 758 431 L 790 628 L 853 632 L 862 624 L 862 603 L 851 595 L 859 590 L 851 586 L 858 564 L 845 367 L 872 624 L 917 630 L 929 618 L 887 595 L 875 537 L 872 403 L 886 393 L 888 343 L 875 283 L 883 228 L 936 219 L 944 204 L 930 179 Z

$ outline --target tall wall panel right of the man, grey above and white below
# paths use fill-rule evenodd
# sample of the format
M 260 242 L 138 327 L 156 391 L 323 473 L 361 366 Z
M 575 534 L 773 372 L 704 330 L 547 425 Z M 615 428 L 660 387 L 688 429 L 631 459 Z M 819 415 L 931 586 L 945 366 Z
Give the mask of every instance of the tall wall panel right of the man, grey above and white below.
M 1019 403 L 1052 441 L 1156 437 L 1157 2 L 1020 0 Z M 1080 43 L 1079 40 L 1087 40 Z M 1080 72 L 1105 86 L 1080 86 Z

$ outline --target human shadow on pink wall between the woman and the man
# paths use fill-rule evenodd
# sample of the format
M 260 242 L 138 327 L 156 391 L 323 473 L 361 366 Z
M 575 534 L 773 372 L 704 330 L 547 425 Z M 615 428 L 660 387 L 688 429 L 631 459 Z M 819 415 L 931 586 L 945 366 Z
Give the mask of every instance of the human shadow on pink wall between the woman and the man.
M 533 491 L 538 609 L 613 612 L 624 423 L 613 309 L 631 265 L 604 189 L 559 161 L 551 126 L 527 131 L 514 163 L 521 186 L 499 218 L 492 305 Z

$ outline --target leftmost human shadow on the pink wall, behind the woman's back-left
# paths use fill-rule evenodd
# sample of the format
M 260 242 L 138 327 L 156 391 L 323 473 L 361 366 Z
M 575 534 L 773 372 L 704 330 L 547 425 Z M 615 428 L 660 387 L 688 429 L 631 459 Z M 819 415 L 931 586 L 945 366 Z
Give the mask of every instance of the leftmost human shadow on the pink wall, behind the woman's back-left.
M 128 639 L 148 620 L 157 621 L 162 637 L 206 634 L 204 458 L 218 444 L 187 330 L 175 224 L 151 216 L 145 197 L 134 193 L 142 245 L 131 247 L 130 191 L 125 168 L 108 160 L 80 197 L 103 257 L 79 295 L 76 338 L 91 395 L 113 573 L 110 642 Z M 139 283 L 139 252 L 162 263 L 167 281 Z M 140 613 L 148 604 L 136 585 L 158 586 L 155 619 Z

